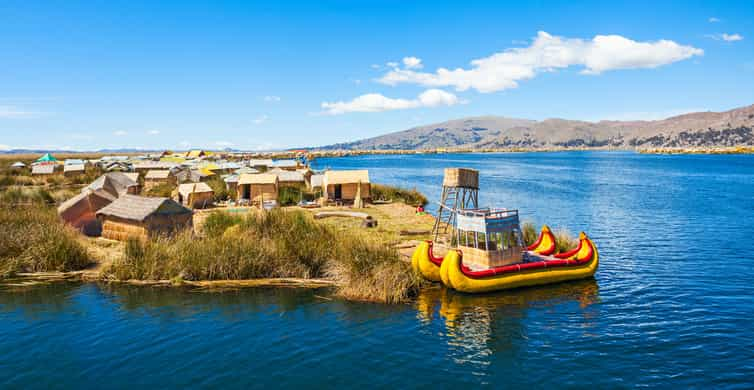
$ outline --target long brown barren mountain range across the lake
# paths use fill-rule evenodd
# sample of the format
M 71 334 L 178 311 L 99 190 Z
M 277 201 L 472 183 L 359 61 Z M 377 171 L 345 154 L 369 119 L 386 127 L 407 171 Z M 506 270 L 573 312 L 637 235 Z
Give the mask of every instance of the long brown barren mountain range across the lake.
M 720 147 L 754 145 L 754 105 L 655 121 L 535 121 L 500 116 L 454 119 L 324 150 L 552 147 Z

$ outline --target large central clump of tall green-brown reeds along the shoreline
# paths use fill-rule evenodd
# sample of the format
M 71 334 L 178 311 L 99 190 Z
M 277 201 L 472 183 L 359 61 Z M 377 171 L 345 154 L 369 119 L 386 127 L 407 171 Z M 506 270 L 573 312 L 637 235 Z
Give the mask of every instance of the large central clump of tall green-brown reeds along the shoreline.
M 329 278 L 343 296 L 391 303 L 418 291 L 419 281 L 397 251 L 318 224 L 300 211 L 216 212 L 207 217 L 203 233 L 131 240 L 110 272 L 142 280 Z

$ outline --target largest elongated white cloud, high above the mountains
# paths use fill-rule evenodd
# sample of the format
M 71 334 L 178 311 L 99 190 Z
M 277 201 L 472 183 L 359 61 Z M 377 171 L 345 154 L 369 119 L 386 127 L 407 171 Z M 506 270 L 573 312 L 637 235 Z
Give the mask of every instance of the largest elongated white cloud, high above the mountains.
M 597 35 L 592 40 L 563 38 L 540 31 L 528 47 L 512 48 L 471 61 L 470 69 L 439 68 L 435 73 L 393 69 L 378 81 L 387 85 L 473 88 L 489 93 L 518 87 L 541 72 L 583 66 L 583 74 L 616 69 L 656 68 L 704 51 L 669 40 L 637 42 L 620 35 Z

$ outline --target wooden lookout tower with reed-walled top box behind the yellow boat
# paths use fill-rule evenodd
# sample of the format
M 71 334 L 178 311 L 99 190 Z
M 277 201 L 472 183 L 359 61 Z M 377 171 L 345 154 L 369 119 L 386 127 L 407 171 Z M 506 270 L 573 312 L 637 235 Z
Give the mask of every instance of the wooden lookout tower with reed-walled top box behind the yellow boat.
M 469 168 L 445 168 L 442 195 L 432 228 L 434 241 L 447 238 L 448 229 L 456 221 L 458 210 L 479 208 L 479 171 Z

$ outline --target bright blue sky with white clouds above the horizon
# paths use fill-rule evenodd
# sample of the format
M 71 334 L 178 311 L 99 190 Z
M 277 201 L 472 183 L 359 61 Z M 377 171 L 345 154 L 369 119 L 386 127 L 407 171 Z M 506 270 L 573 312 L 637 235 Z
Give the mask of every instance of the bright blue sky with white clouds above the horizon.
M 3 1 L 0 149 L 277 149 L 476 115 L 727 110 L 754 103 L 752 20 L 750 1 Z

